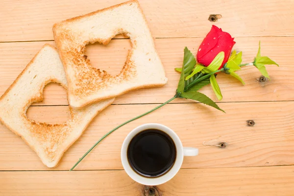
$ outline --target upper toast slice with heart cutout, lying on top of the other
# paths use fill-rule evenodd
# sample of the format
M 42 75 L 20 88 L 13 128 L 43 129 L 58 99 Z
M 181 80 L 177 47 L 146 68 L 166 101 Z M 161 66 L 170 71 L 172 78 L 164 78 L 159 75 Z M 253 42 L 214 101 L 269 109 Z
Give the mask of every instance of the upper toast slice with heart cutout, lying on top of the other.
M 167 83 L 161 60 L 137 0 L 78 16 L 53 25 L 55 43 L 69 83 L 69 103 L 81 108 L 131 90 Z M 130 38 L 124 67 L 112 76 L 91 66 L 86 45 L 107 45 L 117 34 Z M 114 57 L 115 58 L 115 57 Z

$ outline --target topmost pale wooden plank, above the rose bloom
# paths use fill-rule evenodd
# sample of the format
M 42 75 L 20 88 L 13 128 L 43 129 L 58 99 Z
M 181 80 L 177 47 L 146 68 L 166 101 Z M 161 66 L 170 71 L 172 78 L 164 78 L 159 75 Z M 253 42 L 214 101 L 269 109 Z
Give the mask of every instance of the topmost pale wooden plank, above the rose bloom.
M 0 41 L 53 40 L 52 25 L 126 0 L 1 0 Z M 139 0 L 154 37 L 204 37 L 218 25 L 234 37 L 293 36 L 293 0 Z M 254 5 L 254 6 L 252 6 Z M 256 15 L 258 13 L 258 17 Z M 217 23 L 209 15 L 221 14 Z

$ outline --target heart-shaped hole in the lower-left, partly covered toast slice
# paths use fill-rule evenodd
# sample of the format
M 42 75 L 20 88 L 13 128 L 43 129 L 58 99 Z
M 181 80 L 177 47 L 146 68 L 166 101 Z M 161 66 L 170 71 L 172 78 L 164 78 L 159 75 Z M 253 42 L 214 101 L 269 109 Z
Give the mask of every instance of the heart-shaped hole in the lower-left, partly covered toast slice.
M 61 124 L 70 118 L 66 90 L 57 83 L 49 83 L 43 90 L 43 101 L 33 103 L 26 111 L 29 120 Z

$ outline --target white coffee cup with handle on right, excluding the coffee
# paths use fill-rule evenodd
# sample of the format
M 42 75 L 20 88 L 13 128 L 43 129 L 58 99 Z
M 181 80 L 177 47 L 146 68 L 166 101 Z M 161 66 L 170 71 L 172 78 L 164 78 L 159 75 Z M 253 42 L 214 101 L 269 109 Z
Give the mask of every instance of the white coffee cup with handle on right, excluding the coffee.
M 165 132 L 172 138 L 176 147 L 176 158 L 172 168 L 168 172 L 158 177 L 145 177 L 138 174 L 131 168 L 127 158 L 127 149 L 133 137 L 137 135 L 139 132 L 143 130 L 147 130 L 147 129 L 158 129 Z M 142 124 L 136 127 L 135 129 L 133 129 L 124 139 L 123 146 L 121 149 L 121 159 L 122 159 L 122 164 L 123 164 L 123 168 L 125 172 L 136 182 L 143 185 L 148 185 L 148 186 L 156 186 L 156 185 L 160 185 L 169 181 L 180 170 L 183 163 L 184 156 L 196 156 L 196 155 L 198 155 L 197 148 L 183 147 L 180 138 L 176 135 L 176 133 L 171 128 L 163 124 L 158 124 L 158 123 Z

